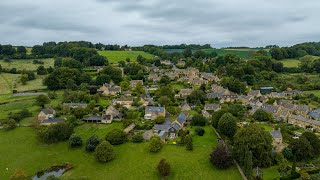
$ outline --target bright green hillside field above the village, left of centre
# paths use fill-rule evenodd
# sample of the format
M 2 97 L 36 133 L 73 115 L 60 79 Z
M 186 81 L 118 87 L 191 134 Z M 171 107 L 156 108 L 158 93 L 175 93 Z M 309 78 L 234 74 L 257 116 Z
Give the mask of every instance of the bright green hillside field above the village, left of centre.
M 151 59 L 154 55 L 143 51 L 98 51 L 100 55 L 107 57 L 110 63 L 117 63 L 119 61 L 125 61 L 126 58 L 130 58 L 131 61 L 136 61 L 139 55 L 144 58 Z

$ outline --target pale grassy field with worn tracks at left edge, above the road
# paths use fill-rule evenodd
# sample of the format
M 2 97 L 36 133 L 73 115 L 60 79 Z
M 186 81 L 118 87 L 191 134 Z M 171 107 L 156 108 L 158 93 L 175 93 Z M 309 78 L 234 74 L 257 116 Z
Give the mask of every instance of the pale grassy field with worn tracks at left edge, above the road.
M 15 89 L 18 92 L 46 89 L 43 85 L 43 79 L 46 76 L 36 75 L 35 80 L 28 81 L 26 85 L 20 83 L 20 74 L 0 74 L 0 95 L 10 94 Z

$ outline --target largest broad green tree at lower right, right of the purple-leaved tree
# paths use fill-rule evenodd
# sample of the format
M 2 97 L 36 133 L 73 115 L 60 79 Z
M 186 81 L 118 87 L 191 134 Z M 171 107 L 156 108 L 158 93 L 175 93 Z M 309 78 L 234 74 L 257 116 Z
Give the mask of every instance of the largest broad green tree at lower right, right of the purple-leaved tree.
M 255 124 L 241 128 L 235 134 L 233 142 L 233 155 L 241 165 L 244 165 L 246 148 L 252 153 L 254 166 L 271 165 L 272 137 L 263 128 Z

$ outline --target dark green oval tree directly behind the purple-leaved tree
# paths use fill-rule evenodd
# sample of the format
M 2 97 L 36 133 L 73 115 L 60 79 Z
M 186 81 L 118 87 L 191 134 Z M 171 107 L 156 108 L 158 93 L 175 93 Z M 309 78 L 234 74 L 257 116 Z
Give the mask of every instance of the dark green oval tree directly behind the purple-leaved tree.
M 237 131 L 237 119 L 231 113 L 225 113 L 219 120 L 218 129 L 229 138 L 233 137 Z

